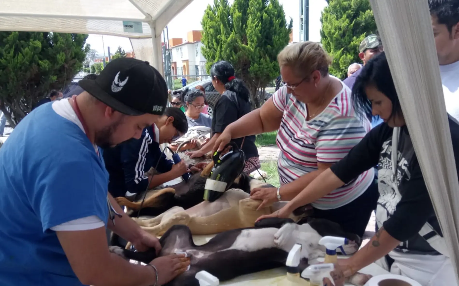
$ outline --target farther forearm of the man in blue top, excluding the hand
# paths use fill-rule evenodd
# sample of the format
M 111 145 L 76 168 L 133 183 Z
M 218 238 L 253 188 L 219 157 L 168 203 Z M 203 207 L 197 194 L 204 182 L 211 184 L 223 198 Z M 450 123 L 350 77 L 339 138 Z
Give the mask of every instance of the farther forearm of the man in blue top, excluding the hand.
M 119 214 L 122 214 L 122 217 L 115 216 L 115 225 L 111 219 L 108 220 L 107 227 L 118 234 L 120 237 L 123 237 L 127 241 L 135 243 L 138 241 L 142 235 L 142 229 L 139 225 L 132 220 L 127 214 L 124 213 L 124 210 L 118 205 L 117 201 L 113 199 L 111 194 L 108 194 L 108 198 L 113 205 L 113 208 Z

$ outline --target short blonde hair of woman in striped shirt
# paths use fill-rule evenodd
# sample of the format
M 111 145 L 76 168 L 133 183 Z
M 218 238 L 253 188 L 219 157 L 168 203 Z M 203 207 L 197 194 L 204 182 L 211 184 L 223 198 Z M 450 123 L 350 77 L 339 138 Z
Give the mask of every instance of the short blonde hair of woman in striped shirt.
M 309 76 L 314 70 L 326 76 L 332 61 L 319 43 L 311 41 L 288 45 L 277 55 L 279 66 L 290 67 L 299 77 Z

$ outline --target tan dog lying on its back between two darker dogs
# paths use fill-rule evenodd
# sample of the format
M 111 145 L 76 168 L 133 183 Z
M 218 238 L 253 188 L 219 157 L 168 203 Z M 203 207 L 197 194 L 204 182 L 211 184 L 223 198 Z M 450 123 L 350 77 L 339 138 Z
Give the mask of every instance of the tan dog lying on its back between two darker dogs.
M 151 218 L 133 218 L 147 232 L 160 236 L 169 228 L 180 224 L 190 228 L 192 234 L 214 234 L 231 229 L 254 227 L 262 215 L 271 214 L 287 202 L 276 202 L 257 210 L 261 200 L 252 200 L 241 189 L 229 189 L 213 202 L 203 201 L 187 210 L 173 207 L 161 215 Z M 301 216 L 291 215 L 298 221 Z

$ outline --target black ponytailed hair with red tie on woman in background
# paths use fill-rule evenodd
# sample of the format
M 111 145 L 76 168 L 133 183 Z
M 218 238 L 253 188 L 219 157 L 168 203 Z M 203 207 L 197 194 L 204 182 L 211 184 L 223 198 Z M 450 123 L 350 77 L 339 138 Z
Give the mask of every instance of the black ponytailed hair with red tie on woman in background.
M 249 101 L 250 92 L 244 81 L 238 78 L 233 78 L 229 81 L 230 77 L 235 76 L 234 67 L 229 62 L 220 60 L 213 64 L 210 69 L 210 75 L 223 82 L 226 90 L 235 92 L 238 97 L 241 97 L 246 102 Z

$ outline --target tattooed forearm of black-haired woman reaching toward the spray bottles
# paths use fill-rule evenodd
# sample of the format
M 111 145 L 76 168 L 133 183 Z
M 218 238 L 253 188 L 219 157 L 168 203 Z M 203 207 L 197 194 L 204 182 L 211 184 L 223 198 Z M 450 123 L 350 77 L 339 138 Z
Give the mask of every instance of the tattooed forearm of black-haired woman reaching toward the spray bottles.
M 363 248 L 358 250 L 347 263 L 350 267 L 349 271 L 355 273 L 358 270 L 368 266 L 369 264 L 380 259 L 384 255 L 391 252 L 400 243 L 397 239 L 393 238 L 384 227 L 381 227 L 375 236 L 371 238 Z M 353 273 L 350 273 L 351 275 Z M 347 273 L 349 275 L 349 273 Z

